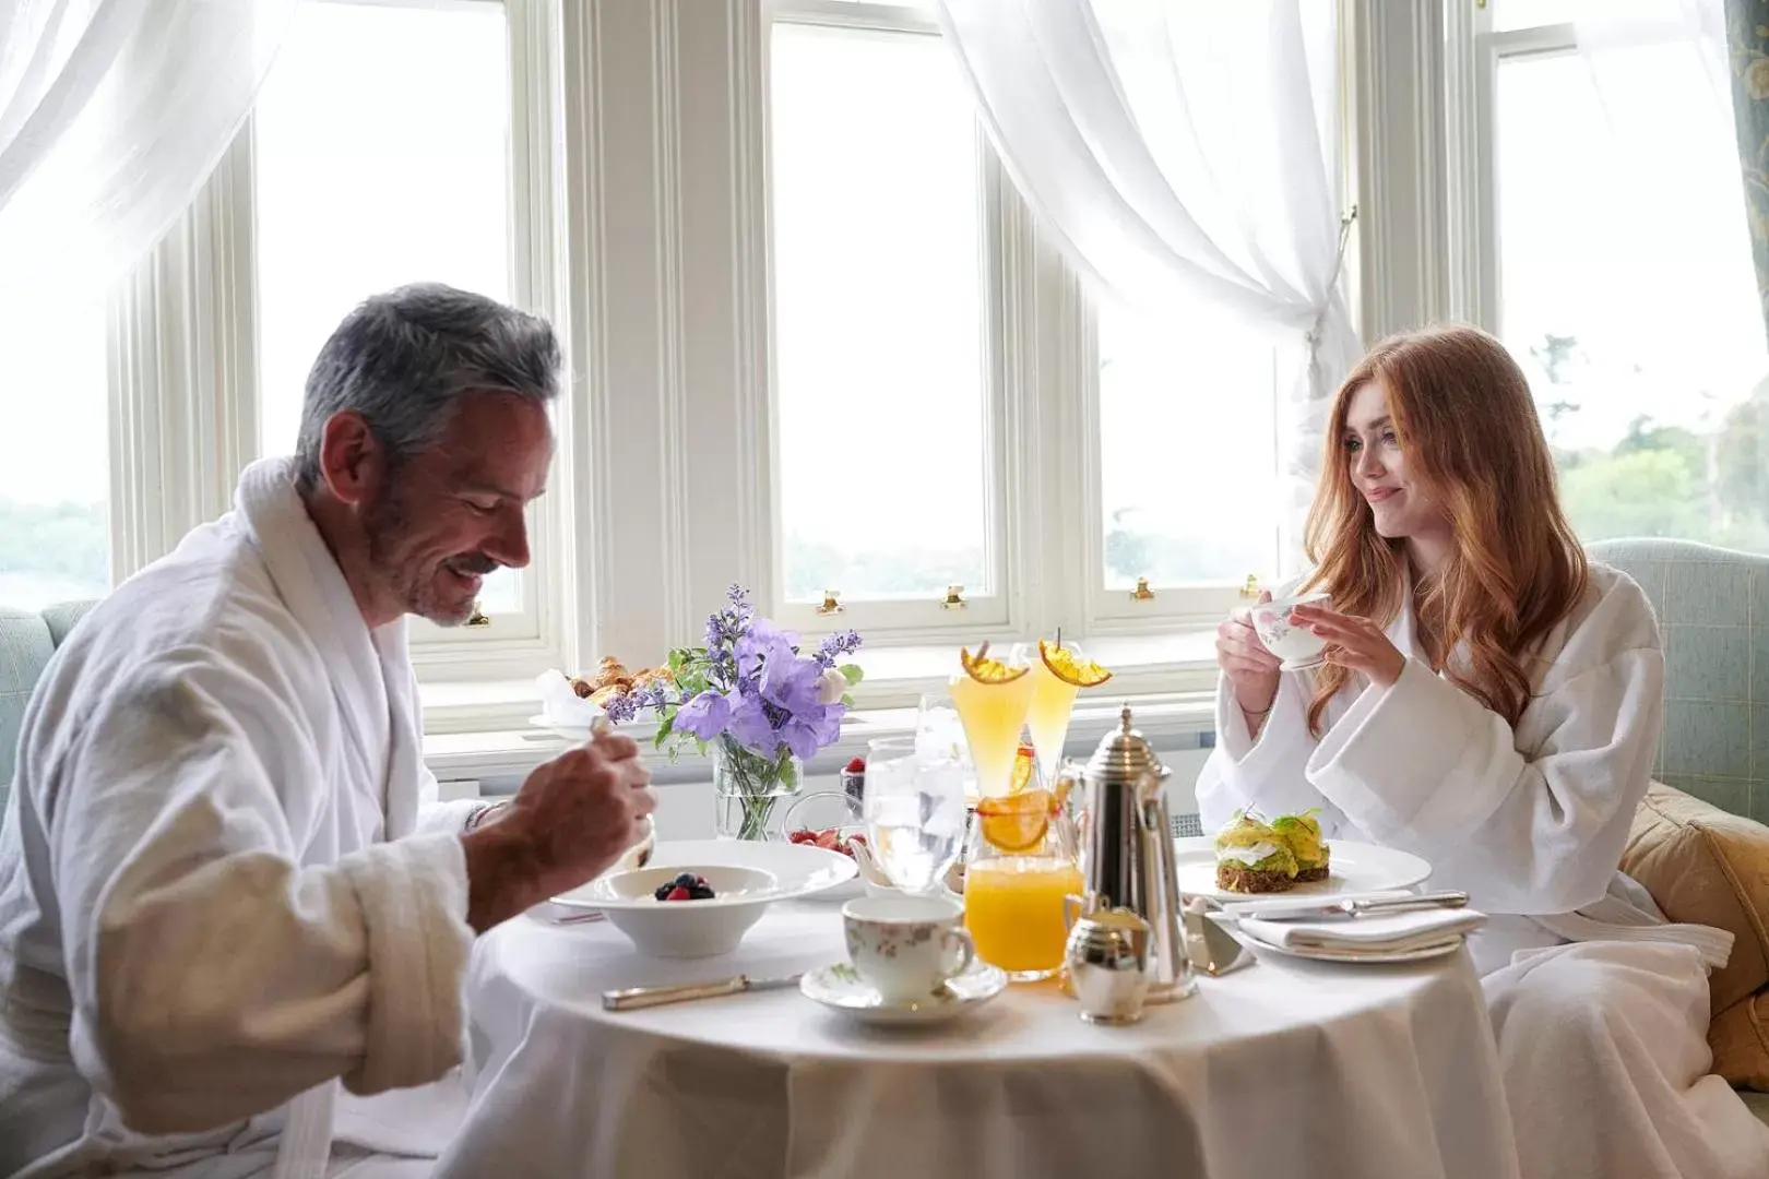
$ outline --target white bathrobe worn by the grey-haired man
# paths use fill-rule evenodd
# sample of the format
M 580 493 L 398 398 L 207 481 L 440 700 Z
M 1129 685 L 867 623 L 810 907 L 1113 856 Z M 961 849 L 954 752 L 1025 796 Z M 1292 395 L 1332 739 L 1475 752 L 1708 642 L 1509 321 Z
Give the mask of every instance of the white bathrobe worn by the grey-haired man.
M 403 622 L 368 629 L 290 463 L 255 463 L 234 513 L 74 629 L 27 711 L 0 1175 L 271 1174 L 310 1089 L 276 1174 L 433 1156 L 448 1085 L 384 1092 L 460 1057 L 474 804 L 426 792 Z

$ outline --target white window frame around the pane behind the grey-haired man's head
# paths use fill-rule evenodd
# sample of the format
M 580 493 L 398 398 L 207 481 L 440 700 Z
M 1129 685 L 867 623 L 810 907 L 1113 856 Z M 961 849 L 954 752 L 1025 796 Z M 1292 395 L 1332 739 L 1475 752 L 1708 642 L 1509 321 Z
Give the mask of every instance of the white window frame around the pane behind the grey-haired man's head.
M 554 150 L 557 0 L 318 0 L 409 9 L 501 4 L 509 48 L 511 293 L 563 323 L 559 168 Z M 255 150 L 248 118 L 172 232 L 124 281 L 110 311 L 113 580 L 170 551 L 232 507 L 239 470 L 260 456 Z M 368 293 L 368 292 L 364 292 Z M 566 341 L 561 331 L 561 343 Z M 566 361 L 566 373 L 570 373 Z M 570 382 L 561 401 L 570 399 Z M 566 407 L 555 419 L 570 419 Z M 563 426 L 561 426 L 563 435 Z M 529 513 L 532 562 L 522 606 L 490 626 L 410 622 L 426 681 L 532 677 L 563 666 L 570 488 L 554 479 Z

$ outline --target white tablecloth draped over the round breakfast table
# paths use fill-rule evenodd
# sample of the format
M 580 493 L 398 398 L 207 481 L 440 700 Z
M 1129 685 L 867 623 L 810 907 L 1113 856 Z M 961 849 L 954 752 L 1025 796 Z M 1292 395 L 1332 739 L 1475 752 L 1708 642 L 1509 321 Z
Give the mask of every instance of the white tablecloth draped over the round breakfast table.
M 444 1177 L 1516 1174 L 1467 955 L 1265 960 L 1129 1029 L 1054 983 L 881 1031 L 796 990 L 610 1015 L 610 986 L 837 962 L 840 907 L 777 905 L 731 958 L 640 958 L 605 923 L 520 917 L 469 981 L 472 1112 Z

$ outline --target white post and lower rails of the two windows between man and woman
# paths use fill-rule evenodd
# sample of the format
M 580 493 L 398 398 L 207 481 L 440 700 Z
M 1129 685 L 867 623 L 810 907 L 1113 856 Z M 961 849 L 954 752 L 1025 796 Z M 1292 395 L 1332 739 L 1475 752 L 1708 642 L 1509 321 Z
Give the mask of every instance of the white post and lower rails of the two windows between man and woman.
M 771 23 L 941 35 L 922 5 L 773 0 Z M 766 57 L 766 53 L 764 53 Z M 982 136 L 982 131 L 978 129 Z M 1201 633 L 1244 601 L 1242 585 L 1152 583 L 1152 599 L 1107 589 L 1100 488 L 1100 389 L 1095 315 L 1079 278 L 1038 233 L 984 138 L 987 292 L 989 553 L 1001 601 L 969 594 L 962 612 L 925 603 L 842 597 L 839 615 L 775 601 L 807 635 L 854 628 L 867 647 L 1053 635 L 1132 638 Z M 1274 387 L 1275 396 L 1275 387 Z M 1079 440 L 1079 442 L 1077 442 Z M 1178 442 L 1176 442 L 1178 444 Z M 775 513 L 778 520 L 778 479 Z M 1279 537 L 1274 536 L 1274 548 Z M 784 555 L 773 553 L 775 580 Z M 840 587 L 831 587 L 840 589 Z M 1185 661 L 1187 666 L 1191 661 Z

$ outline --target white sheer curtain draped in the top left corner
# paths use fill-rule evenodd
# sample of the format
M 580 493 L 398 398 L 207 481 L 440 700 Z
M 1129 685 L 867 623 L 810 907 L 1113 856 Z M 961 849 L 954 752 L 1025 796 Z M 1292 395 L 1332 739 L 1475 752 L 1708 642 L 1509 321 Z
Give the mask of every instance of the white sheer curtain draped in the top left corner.
M 0 306 L 88 299 L 196 196 L 295 0 L 0 0 Z

